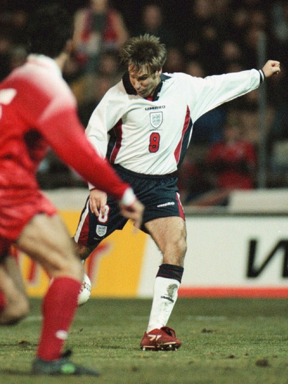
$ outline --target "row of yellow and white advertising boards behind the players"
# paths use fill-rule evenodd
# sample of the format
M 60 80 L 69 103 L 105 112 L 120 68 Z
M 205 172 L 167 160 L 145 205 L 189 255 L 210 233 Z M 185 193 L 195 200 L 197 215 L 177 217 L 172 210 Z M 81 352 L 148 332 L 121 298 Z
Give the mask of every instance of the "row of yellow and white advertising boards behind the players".
M 53 191 L 71 236 L 87 191 Z M 233 210 L 232 210 L 233 211 Z M 188 251 L 179 296 L 288 297 L 288 220 L 284 212 L 233 213 L 187 209 Z M 26 255 L 18 260 L 28 294 L 41 297 L 49 279 Z M 151 297 L 161 254 L 141 231 L 123 231 L 103 240 L 86 261 L 92 297 Z

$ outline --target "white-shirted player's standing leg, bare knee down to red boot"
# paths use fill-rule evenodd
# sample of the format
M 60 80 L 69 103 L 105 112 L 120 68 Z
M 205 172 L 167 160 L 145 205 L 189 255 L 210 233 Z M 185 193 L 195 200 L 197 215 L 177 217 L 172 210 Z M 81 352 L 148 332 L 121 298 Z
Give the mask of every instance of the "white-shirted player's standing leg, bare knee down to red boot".
M 186 225 L 181 217 L 151 220 L 145 227 L 163 254 L 154 284 L 153 302 L 147 331 L 141 342 L 144 349 L 177 349 L 181 341 L 166 327 L 178 296 L 187 250 Z

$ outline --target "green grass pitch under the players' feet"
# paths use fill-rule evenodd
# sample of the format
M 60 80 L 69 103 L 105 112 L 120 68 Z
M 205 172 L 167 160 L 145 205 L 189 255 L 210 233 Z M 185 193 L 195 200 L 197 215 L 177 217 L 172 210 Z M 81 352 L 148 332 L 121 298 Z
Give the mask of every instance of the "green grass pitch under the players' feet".
M 288 307 L 282 299 L 178 299 L 168 326 L 182 347 L 142 351 L 151 300 L 90 299 L 80 307 L 66 348 L 99 378 L 30 375 L 41 325 L 30 316 L 0 328 L 2 384 L 288 384 Z

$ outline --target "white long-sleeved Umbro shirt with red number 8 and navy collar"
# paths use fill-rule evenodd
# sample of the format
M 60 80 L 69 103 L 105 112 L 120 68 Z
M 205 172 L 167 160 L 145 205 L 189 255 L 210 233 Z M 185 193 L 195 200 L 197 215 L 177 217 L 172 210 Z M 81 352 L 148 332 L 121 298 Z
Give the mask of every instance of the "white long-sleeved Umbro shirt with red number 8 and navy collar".
M 205 112 L 242 96 L 260 84 L 256 69 L 208 76 L 162 74 L 153 100 L 138 96 L 128 73 L 103 96 L 86 134 L 112 164 L 148 175 L 177 170 Z

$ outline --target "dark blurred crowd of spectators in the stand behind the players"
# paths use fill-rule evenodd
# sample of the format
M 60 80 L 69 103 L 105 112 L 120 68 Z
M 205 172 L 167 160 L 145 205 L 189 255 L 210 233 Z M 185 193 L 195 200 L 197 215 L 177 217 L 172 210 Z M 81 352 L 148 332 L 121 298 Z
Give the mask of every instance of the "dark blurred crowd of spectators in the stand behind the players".
M 0 79 L 21 65 L 27 54 L 25 25 L 31 9 L 18 2 L 15 8 L 7 1 L 0 9 Z M 257 188 L 259 143 L 265 135 L 266 187 L 288 187 L 288 1 L 76 3 L 71 9 L 75 15 L 74 51 L 64 77 L 77 98 L 84 126 L 104 93 L 123 75 L 118 49 L 128 37 L 144 33 L 160 37 L 168 48 L 163 70 L 170 73 L 206 77 L 259 69 L 269 58 L 279 60 L 281 74 L 267 82 L 264 131 L 259 129 L 260 87 L 195 122 L 178 177 L 184 203 L 226 205 L 231 190 Z M 264 62 L 259 46 L 264 47 Z M 53 153 L 38 173 L 44 189 L 86 187 Z

